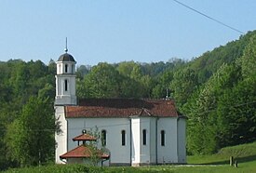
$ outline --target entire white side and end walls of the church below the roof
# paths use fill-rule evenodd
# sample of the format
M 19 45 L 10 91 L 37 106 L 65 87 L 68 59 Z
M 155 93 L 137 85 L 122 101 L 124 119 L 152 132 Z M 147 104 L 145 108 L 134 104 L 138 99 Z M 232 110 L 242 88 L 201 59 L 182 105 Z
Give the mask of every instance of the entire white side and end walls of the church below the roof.
M 56 115 L 62 122 L 63 134 L 57 136 L 56 162 L 62 163 L 59 156 L 77 147 L 74 137 L 83 129 L 99 132 L 106 130 L 106 148 L 110 160 L 104 165 L 173 164 L 185 163 L 185 119 L 177 123 L 176 117 L 132 117 L 132 118 L 63 118 L 64 109 L 56 107 Z M 69 129 L 66 131 L 66 129 Z M 142 144 L 142 130 L 146 129 L 146 145 Z M 126 145 L 122 146 L 121 131 L 126 131 Z M 165 146 L 161 146 L 161 130 L 165 130 Z M 67 135 L 65 135 L 67 134 Z M 179 151 L 178 151 L 179 150 Z M 157 161 L 156 161 L 157 157 Z

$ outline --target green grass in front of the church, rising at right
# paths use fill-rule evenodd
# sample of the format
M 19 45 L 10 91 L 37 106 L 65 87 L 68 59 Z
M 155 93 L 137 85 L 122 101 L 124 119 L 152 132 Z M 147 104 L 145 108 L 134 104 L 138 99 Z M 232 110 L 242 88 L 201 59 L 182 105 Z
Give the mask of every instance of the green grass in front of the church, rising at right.
M 233 156 L 238 167 L 229 166 L 229 158 Z M 195 155 L 187 157 L 188 165 L 184 166 L 115 166 L 93 167 L 85 165 L 50 165 L 9 169 L 7 172 L 256 172 L 256 142 L 223 148 L 213 155 Z

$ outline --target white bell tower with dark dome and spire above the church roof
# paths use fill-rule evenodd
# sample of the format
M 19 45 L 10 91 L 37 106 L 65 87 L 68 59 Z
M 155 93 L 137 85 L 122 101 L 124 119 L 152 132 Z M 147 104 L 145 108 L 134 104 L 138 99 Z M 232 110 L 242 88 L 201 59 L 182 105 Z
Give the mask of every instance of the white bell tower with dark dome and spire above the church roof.
M 57 60 L 55 105 L 76 105 L 75 60 L 68 54 L 67 40 L 65 53 Z

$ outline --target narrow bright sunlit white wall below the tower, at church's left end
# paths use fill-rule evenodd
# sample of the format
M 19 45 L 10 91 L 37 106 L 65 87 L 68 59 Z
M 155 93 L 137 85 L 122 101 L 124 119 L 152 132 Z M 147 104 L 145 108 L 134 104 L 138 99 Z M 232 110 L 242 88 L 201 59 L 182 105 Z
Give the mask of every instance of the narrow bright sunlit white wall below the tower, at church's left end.
M 55 134 L 56 150 L 55 150 L 55 162 L 57 164 L 65 164 L 60 160 L 60 155 L 67 152 L 67 122 L 64 117 L 64 107 L 55 107 L 55 118 L 61 122 L 61 134 Z

